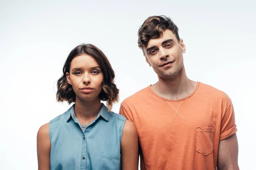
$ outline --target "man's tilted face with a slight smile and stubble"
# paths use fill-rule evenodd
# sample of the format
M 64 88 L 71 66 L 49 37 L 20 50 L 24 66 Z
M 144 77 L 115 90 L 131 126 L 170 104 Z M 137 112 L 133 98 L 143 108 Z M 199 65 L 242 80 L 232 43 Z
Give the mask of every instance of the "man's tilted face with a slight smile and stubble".
M 175 34 L 167 29 L 162 37 L 149 40 L 143 51 L 148 65 L 158 76 L 172 78 L 183 67 L 182 53 L 186 52 L 186 47 L 182 39 L 178 42 Z

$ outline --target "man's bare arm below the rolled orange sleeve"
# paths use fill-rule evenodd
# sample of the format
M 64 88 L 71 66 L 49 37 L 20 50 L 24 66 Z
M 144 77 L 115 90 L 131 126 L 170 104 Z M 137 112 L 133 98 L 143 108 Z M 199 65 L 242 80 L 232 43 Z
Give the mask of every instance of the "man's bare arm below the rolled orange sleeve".
M 217 168 L 218 170 L 239 170 L 236 133 L 220 141 Z

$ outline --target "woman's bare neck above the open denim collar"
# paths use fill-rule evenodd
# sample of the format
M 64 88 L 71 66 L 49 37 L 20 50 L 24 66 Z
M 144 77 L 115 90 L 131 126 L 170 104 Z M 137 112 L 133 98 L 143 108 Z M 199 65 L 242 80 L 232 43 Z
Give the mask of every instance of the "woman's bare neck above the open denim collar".
M 101 110 L 101 101 L 98 97 L 90 101 L 84 101 L 76 96 L 75 115 L 81 124 L 88 125 L 95 119 Z

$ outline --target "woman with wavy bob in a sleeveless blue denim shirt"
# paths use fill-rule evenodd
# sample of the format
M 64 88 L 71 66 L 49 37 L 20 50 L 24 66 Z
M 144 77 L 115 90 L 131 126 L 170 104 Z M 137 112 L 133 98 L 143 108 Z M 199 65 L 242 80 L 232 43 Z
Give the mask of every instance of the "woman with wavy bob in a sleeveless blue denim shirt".
M 39 170 L 138 169 L 136 127 L 111 112 L 119 94 L 114 77 L 107 57 L 94 45 L 70 52 L 56 97 L 75 104 L 38 130 Z

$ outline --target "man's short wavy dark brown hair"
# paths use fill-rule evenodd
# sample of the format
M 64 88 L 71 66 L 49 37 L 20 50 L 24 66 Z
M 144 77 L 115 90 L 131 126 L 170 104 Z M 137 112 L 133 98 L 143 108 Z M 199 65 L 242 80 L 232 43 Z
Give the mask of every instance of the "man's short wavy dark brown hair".
M 171 18 L 164 15 L 148 17 L 138 31 L 138 45 L 141 49 L 148 45 L 150 39 L 157 39 L 163 36 L 163 31 L 169 29 L 175 34 L 178 41 L 178 27 L 172 22 Z

